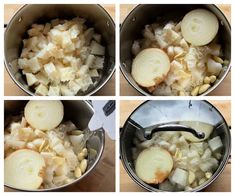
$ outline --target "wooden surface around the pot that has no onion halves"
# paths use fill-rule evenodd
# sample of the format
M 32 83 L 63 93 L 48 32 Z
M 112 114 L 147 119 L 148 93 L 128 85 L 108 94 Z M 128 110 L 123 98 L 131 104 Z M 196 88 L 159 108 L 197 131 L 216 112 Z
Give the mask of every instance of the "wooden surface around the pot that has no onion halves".
M 101 4 L 102 5 L 102 4 Z M 14 13 L 22 6 L 22 4 L 5 4 L 4 5 L 4 23 L 7 24 Z M 102 5 L 111 17 L 115 18 L 115 6 L 112 4 Z M 4 95 L 5 96 L 25 96 L 27 95 L 23 90 L 21 90 L 11 79 L 10 75 L 4 69 Z M 114 96 L 115 95 L 115 73 L 108 83 L 101 88 L 94 95 L 97 96 Z

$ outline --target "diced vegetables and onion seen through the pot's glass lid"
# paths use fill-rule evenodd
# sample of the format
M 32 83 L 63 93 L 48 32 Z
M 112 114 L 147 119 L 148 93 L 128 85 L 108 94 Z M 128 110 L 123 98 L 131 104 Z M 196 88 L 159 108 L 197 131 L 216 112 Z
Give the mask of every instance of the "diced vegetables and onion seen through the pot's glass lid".
M 136 174 L 145 183 L 158 185 L 163 191 L 190 191 L 210 180 L 217 170 L 223 143 L 220 136 L 210 137 L 214 135 L 213 126 L 194 121 L 182 124 L 200 128 L 205 138 L 164 131 L 146 140 L 143 133 L 136 131 L 132 155 Z

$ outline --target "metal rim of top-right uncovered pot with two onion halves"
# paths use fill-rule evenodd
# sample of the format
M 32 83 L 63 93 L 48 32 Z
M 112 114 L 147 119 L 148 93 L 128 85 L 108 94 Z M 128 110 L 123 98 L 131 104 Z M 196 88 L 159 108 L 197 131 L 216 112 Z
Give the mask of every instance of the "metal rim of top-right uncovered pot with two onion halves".
M 126 23 L 127 21 L 127 18 L 133 14 L 138 8 L 140 7 L 143 7 L 145 5 L 149 5 L 149 4 L 138 4 L 137 6 L 135 6 L 131 11 L 130 13 L 128 13 L 128 15 L 125 17 L 125 19 L 123 20 L 122 24 L 121 24 L 121 27 L 120 27 L 120 37 L 121 37 L 121 32 L 122 32 L 122 29 L 123 29 L 123 25 Z M 167 5 L 167 4 L 166 4 Z M 178 5 L 178 4 L 177 4 Z M 186 4 L 182 4 L 182 5 L 186 5 Z M 229 31 L 230 31 L 230 34 L 231 34 L 231 24 L 230 22 L 228 21 L 227 17 L 225 16 L 225 14 L 218 8 L 218 6 L 216 6 L 215 4 L 195 4 L 195 5 L 211 5 L 213 6 L 215 9 L 217 9 L 220 14 L 223 16 L 223 19 L 224 21 L 227 23 L 228 27 L 229 27 Z M 231 36 L 230 36 L 231 37 Z M 121 43 L 120 43 L 121 44 Z M 200 94 L 199 96 L 204 96 L 204 95 L 208 95 L 209 93 L 211 93 L 214 89 L 216 89 L 222 82 L 223 80 L 227 77 L 228 73 L 230 72 L 231 70 L 231 58 L 232 56 L 230 57 L 230 62 L 229 62 L 229 65 L 228 65 L 228 68 L 226 69 L 226 71 L 224 72 L 223 76 L 220 78 L 219 82 L 214 84 L 213 86 L 211 86 L 206 92 Z M 122 72 L 122 75 L 124 76 L 124 78 L 127 80 L 127 82 L 130 84 L 130 86 L 132 88 L 134 88 L 137 92 L 140 93 L 140 95 L 137 95 L 137 96 L 141 96 L 141 95 L 145 95 L 145 96 L 155 96 L 155 95 L 152 95 L 150 93 L 147 93 L 146 91 L 144 91 L 138 84 L 135 84 L 131 81 L 130 77 L 128 76 L 127 74 L 127 71 L 125 69 L 125 65 L 122 63 L 121 61 L 121 55 L 120 55 L 120 70 Z M 173 96 L 173 95 L 172 95 Z M 157 96 L 156 96 L 157 97 Z

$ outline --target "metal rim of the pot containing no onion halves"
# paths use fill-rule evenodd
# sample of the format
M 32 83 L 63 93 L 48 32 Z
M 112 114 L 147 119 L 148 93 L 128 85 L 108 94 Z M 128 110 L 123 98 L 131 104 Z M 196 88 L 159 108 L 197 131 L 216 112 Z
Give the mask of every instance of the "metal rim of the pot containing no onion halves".
M 28 5 L 37 5 L 37 4 L 24 4 L 24 5 L 22 5 L 20 8 L 18 8 L 18 9 L 14 12 L 13 16 L 10 18 L 10 20 L 9 20 L 7 26 L 6 26 L 6 29 L 5 29 L 5 32 L 4 32 L 4 65 L 5 65 L 5 68 L 6 68 L 7 72 L 8 72 L 8 74 L 10 75 L 11 79 L 14 81 L 14 83 L 15 83 L 18 87 L 20 87 L 20 89 L 21 89 L 22 91 L 24 91 L 27 95 L 38 96 L 38 95 L 35 95 L 35 93 L 31 92 L 30 90 L 26 89 L 26 88 L 24 87 L 24 85 L 21 84 L 21 83 L 14 77 L 14 74 L 11 73 L 11 71 L 10 71 L 10 69 L 9 69 L 9 64 L 10 64 L 11 62 L 7 62 L 7 60 L 6 60 L 7 54 L 6 54 L 6 45 L 5 45 L 5 41 L 6 41 L 6 37 L 7 37 L 7 32 L 8 32 L 8 30 L 9 30 L 9 26 L 11 26 L 13 20 L 15 20 L 15 17 L 17 16 L 17 14 L 19 14 L 20 11 L 21 11 L 22 9 L 24 9 L 25 7 L 27 7 Z M 48 5 L 50 5 L 50 4 L 48 4 Z M 52 4 L 51 4 L 51 5 L 52 5 Z M 79 5 L 79 4 L 76 4 L 76 5 Z M 115 23 L 114 23 L 114 20 L 112 19 L 112 17 L 110 16 L 110 14 L 104 9 L 104 7 L 102 7 L 100 4 L 87 4 L 87 5 L 95 5 L 95 6 L 97 6 L 99 9 L 101 9 L 101 10 L 104 12 L 104 14 L 109 18 L 109 20 L 111 21 L 111 24 L 112 24 L 112 26 L 113 26 L 113 28 L 114 28 L 114 31 L 115 31 Z M 112 78 L 112 76 L 113 76 L 113 74 L 114 74 L 114 72 L 115 72 L 115 68 L 116 68 L 115 64 L 116 64 L 116 63 L 115 63 L 115 58 L 114 58 L 114 66 L 113 66 L 113 68 L 111 68 L 112 71 L 109 72 L 109 75 L 108 75 L 107 78 L 101 83 L 101 85 L 100 85 L 99 87 L 96 87 L 96 88 L 93 89 L 91 92 L 89 92 L 89 93 L 87 93 L 87 94 L 85 94 L 85 95 L 75 95 L 75 96 L 90 96 L 90 95 L 93 95 L 93 94 L 95 94 L 96 92 L 98 92 L 98 91 L 99 91 L 101 88 L 103 88 L 103 87 L 108 83 L 108 81 Z M 61 96 L 62 96 L 62 95 L 61 95 Z

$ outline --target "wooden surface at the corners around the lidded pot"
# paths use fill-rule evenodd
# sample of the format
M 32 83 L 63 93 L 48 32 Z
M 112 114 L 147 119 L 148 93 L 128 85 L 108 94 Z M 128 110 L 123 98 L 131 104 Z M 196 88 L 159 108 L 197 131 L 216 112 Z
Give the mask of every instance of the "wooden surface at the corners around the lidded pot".
M 120 126 L 123 127 L 126 119 L 144 101 L 120 101 Z M 228 125 L 231 125 L 231 102 L 230 101 L 209 101 L 224 116 Z M 127 174 L 120 161 L 120 191 L 121 192 L 143 192 Z M 206 192 L 231 192 L 231 163 L 229 162 L 222 174 L 204 191 Z

